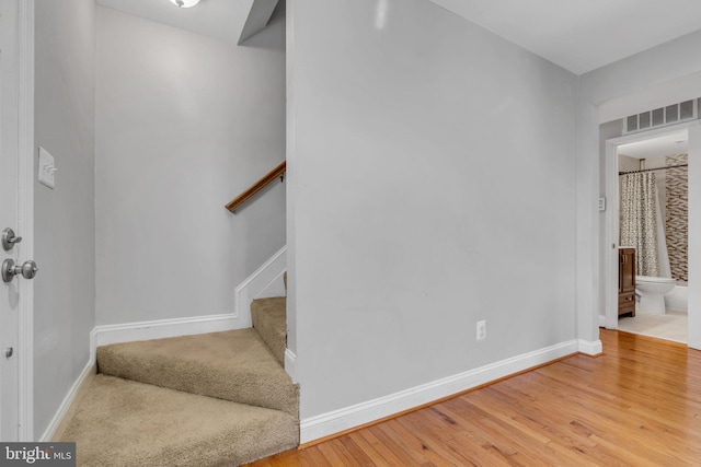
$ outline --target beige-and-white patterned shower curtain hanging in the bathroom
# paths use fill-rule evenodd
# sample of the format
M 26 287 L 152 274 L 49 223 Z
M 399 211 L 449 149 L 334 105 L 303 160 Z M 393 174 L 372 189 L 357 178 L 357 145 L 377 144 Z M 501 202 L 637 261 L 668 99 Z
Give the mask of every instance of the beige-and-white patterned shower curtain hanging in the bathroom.
M 627 174 L 620 183 L 619 244 L 635 248 L 639 276 L 659 276 L 655 174 Z

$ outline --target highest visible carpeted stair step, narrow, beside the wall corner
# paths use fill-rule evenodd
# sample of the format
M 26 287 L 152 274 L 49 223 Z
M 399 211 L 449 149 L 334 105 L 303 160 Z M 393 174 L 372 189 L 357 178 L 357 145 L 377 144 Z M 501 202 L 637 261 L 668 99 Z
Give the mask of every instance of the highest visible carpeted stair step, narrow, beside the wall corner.
M 287 299 L 276 296 L 257 299 L 251 303 L 253 328 L 273 352 L 275 359 L 285 366 L 287 348 Z

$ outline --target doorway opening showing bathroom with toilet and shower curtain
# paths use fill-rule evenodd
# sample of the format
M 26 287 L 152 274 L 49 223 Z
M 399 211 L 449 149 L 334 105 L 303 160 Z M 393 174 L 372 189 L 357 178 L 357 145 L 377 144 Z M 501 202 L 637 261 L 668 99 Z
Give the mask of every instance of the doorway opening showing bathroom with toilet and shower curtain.
M 689 342 L 688 201 L 693 164 L 689 128 L 694 125 L 606 141 L 605 325 L 609 329 Z M 620 289 L 625 264 L 621 258 L 631 249 L 636 281 L 634 294 L 627 291 L 628 296 Z M 625 299 L 634 300 L 634 307 L 630 303 L 627 307 Z

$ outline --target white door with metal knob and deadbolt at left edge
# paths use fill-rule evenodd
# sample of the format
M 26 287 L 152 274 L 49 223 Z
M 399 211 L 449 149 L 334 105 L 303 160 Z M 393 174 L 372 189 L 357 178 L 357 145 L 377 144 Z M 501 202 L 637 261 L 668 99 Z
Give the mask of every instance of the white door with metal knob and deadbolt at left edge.
M 16 0 L 0 0 L 0 232 L 12 229 L 18 236 L 19 105 Z M 5 252 L 0 264 L 19 262 L 22 244 Z M 0 441 L 19 439 L 19 279 L 0 281 Z

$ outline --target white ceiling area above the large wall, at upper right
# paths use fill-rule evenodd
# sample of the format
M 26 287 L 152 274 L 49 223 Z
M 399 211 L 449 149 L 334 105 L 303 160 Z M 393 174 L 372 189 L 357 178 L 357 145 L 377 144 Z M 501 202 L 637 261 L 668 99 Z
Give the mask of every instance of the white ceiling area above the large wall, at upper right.
M 699 0 L 430 0 L 576 73 L 701 27 Z

